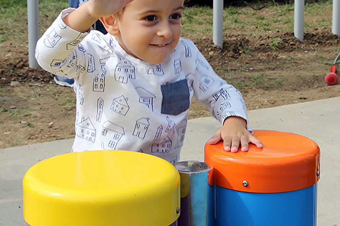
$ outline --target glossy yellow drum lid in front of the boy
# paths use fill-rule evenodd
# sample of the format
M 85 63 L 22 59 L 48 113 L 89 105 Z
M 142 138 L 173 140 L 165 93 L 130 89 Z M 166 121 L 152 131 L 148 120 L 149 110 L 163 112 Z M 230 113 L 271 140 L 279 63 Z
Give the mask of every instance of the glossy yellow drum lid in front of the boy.
M 31 226 L 168 226 L 179 217 L 180 176 L 169 162 L 132 151 L 84 151 L 32 166 L 23 187 Z

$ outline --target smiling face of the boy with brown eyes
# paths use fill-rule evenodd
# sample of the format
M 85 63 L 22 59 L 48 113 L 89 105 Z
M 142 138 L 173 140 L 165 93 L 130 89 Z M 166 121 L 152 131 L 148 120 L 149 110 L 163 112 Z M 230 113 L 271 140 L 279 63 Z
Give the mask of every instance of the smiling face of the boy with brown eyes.
M 135 0 L 117 18 L 116 38 L 131 56 L 159 64 L 181 36 L 183 0 Z

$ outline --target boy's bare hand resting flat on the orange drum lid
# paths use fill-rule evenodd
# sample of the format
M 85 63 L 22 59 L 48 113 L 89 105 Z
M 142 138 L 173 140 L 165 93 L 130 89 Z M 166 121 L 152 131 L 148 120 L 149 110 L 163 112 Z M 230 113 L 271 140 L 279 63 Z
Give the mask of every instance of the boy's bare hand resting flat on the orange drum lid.
M 262 148 L 262 143 L 246 129 L 246 120 L 241 117 L 228 117 L 223 126 L 208 140 L 208 144 L 216 144 L 223 140 L 226 151 L 237 152 L 241 144 L 241 151 L 248 151 L 248 144 L 253 143 Z

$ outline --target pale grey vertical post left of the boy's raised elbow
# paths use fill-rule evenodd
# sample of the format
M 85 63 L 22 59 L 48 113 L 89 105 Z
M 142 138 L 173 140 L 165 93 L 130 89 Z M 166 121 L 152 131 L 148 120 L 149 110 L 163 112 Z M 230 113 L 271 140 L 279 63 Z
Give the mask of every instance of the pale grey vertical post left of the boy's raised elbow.
M 39 67 L 35 59 L 35 46 L 39 39 L 39 8 L 38 0 L 27 0 L 28 22 L 28 64 L 30 67 Z

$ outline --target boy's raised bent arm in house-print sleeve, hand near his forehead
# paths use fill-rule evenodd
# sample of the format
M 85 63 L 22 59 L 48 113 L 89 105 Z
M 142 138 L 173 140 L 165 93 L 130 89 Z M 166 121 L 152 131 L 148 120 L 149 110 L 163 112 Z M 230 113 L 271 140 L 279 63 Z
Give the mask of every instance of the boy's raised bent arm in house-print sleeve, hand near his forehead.
M 79 78 L 84 71 L 91 72 L 98 47 L 83 41 L 88 29 L 100 15 L 115 13 L 131 1 L 90 0 L 77 9 L 63 10 L 37 42 L 35 57 L 39 65 L 54 75 L 72 78 Z M 94 34 L 92 39 L 98 45 L 107 45 L 99 36 Z

